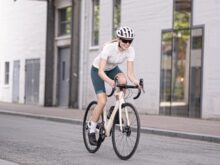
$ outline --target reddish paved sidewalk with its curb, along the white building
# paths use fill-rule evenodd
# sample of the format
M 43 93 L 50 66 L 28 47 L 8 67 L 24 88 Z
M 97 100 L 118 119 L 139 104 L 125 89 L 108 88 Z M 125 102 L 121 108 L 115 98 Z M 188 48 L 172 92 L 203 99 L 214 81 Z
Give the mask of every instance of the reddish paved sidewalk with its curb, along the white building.
M 0 102 L 0 114 L 82 124 L 84 110 Z M 220 143 L 220 120 L 142 115 L 141 132 Z

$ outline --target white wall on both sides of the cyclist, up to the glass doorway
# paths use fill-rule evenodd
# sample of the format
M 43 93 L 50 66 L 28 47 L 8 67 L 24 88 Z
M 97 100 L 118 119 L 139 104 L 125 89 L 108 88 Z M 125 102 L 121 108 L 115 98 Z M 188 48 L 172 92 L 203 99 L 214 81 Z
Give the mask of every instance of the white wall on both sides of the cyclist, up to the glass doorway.
M 122 1 L 121 25 L 134 28 L 136 38 L 132 43 L 136 50 L 135 72 L 138 78 L 144 78 L 146 93 L 135 101 L 139 112 L 159 113 L 159 84 L 160 84 L 160 44 L 162 29 L 172 28 L 172 0 Z M 91 36 L 91 4 L 88 1 L 86 10 L 86 35 Z M 100 44 L 98 48 L 91 48 L 87 40 L 87 50 L 84 60 L 87 61 L 87 71 L 84 74 L 88 80 L 85 84 L 83 97 L 84 105 L 95 99 L 95 93 L 90 80 L 90 67 L 93 59 L 103 44 L 111 40 L 112 31 L 112 1 L 100 3 Z M 107 21 L 108 20 L 108 21 Z M 126 72 L 126 65 L 121 68 Z M 129 100 L 133 102 L 132 99 Z

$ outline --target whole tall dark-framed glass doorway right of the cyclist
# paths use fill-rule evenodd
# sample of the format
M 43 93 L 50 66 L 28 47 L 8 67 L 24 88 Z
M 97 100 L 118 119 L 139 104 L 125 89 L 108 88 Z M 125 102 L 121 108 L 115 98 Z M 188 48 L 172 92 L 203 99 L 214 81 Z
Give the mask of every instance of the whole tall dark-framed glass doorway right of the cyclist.
M 203 28 L 163 31 L 160 114 L 200 117 Z

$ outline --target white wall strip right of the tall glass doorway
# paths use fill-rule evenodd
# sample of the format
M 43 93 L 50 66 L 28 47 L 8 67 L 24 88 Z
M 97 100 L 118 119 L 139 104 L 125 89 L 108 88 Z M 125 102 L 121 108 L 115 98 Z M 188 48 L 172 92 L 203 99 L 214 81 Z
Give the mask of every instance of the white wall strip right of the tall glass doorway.
M 202 118 L 220 117 L 220 1 L 194 0 L 195 25 L 204 25 Z

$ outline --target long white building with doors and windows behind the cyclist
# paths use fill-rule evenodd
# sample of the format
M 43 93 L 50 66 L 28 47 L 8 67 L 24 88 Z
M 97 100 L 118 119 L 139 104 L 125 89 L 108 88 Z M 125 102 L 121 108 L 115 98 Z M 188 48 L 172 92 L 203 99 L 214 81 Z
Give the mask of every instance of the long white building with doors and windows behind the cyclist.
M 139 112 L 220 118 L 220 2 L 4 0 L 0 8 L 0 101 L 16 101 L 19 85 L 17 101 L 28 103 L 24 66 L 27 59 L 40 59 L 35 103 L 85 108 L 95 99 L 91 63 L 114 29 L 126 25 L 136 32 L 135 71 L 145 82 L 146 93 L 135 100 Z M 22 37 L 14 40 L 12 34 Z M 13 83 L 15 60 L 20 60 L 19 83 Z

